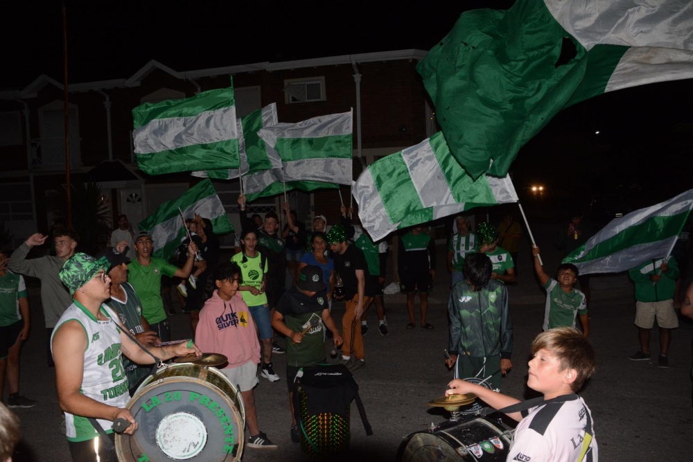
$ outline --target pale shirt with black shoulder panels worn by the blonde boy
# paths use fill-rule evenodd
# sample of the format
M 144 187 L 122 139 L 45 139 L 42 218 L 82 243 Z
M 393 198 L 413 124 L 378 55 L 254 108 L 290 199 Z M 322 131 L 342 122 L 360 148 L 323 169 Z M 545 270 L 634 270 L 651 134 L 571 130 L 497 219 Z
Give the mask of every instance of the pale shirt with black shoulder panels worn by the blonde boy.
M 529 409 L 515 429 L 506 461 L 597 462 L 590 409 L 577 395 L 565 398 Z

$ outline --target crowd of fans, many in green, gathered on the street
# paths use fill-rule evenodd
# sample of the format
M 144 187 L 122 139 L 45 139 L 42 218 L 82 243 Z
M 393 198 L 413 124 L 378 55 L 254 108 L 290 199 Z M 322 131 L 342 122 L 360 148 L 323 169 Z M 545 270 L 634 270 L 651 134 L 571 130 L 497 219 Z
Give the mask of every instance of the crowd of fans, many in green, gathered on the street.
M 338 364 L 351 372 L 365 366 L 363 336 L 369 331 L 371 304 L 376 306 L 378 332 L 388 335 L 383 294 L 389 245 L 384 240 L 374 242 L 361 226 L 358 213 L 346 206 L 340 208 L 338 224 L 327 226 L 326 216 L 316 215 L 312 229 L 307 229 L 296 211 L 283 202 L 281 221 L 285 225 L 281 231 L 277 213 L 248 217 L 243 195 L 238 197 L 238 206 L 241 229 L 230 261 L 222 261 L 210 220 L 197 214 L 187 220 L 186 238 L 169 260 L 152 256 L 152 236 L 146 231 L 134 233 L 125 215 L 118 217 L 109 247 L 93 257 L 76 252 L 79 237 L 67 228 L 56 229 L 51 236 L 55 255 L 27 258 L 30 249 L 51 242 L 40 233 L 27 238 L 14 252 L 0 249 L 0 391 L 7 382 L 8 407 L 36 404 L 19 394 L 19 353 L 30 329 L 22 277 L 26 275 L 41 281 L 49 337 L 47 362 L 55 368 L 73 460 L 94 459 L 94 454 L 91 459 L 86 454 L 98 429 L 88 419 L 96 419 L 111 441 L 116 418 L 128 421 L 126 434 L 137 430 L 126 405 L 150 375 L 150 367 L 143 366 L 152 362 L 147 352 L 159 359 L 200 354 L 201 350 L 225 355 L 228 363 L 220 370 L 238 385 L 243 398 L 247 447 L 270 450 L 277 445 L 259 429 L 253 390 L 258 368 L 259 377 L 269 382 L 281 380 L 282 371 L 274 370 L 272 355 L 286 354 L 290 436 L 298 443 L 292 394 L 301 368 L 326 362 L 327 337 Z M 475 393 L 495 409 L 509 407 L 502 411 L 522 420 L 514 443 L 521 452 L 516 454 L 527 456 L 516 460 L 529 460 L 529 454 L 548 451 L 551 445 L 572 456 L 592 454 L 596 460 L 589 409 L 574 395 L 595 368 L 587 342 L 588 277 L 581 276 L 574 265 L 562 264 L 552 278 L 541 263 L 539 247 L 533 245 L 534 272 L 546 301 L 543 334 L 532 345 L 529 387 L 543 393 L 546 402 L 535 403 L 529 413 L 518 410 L 511 406 L 518 400 L 500 394 L 500 389 L 502 377 L 513 367 L 507 285 L 516 283 L 515 262 L 523 227 L 513 213 L 506 213 L 498 227 L 480 223 L 475 233 L 469 215 L 458 215 L 453 223 L 455 232 L 447 238 L 446 258 L 450 273 L 446 366 L 454 380 L 446 393 Z M 587 227 L 576 213 L 556 246 L 570 251 L 588 237 Z M 436 277 L 435 233 L 425 224 L 414 226 L 398 233 L 393 247 L 399 292 L 405 294 L 410 318 L 402 327 L 433 330 L 427 310 Z M 650 358 L 649 335 L 656 323 L 660 330 L 658 365 L 667 367 L 670 331 L 678 326 L 674 299 L 681 299 L 681 312 L 693 317 L 693 290 L 681 290 L 673 257 L 643 263 L 631 269 L 630 277 L 635 284 L 635 325 L 640 340 L 640 350 L 630 359 Z M 174 286 L 175 292 L 170 290 Z M 169 299 L 172 292 L 179 295 L 183 311 L 190 317 L 194 343 L 165 346 L 171 340 L 168 316 L 175 313 Z M 417 295 L 418 317 L 414 309 Z M 331 316 L 337 300 L 344 303 L 341 329 Z M 570 348 L 580 348 L 581 355 L 571 355 Z M 112 393 L 102 393 L 106 384 Z M 556 409 L 560 418 L 546 417 L 550 411 L 543 410 L 554 402 L 560 405 Z M 578 420 L 576 416 L 580 416 Z M 571 452 L 565 444 L 538 434 L 538 421 L 558 426 L 559 433 L 577 432 L 582 441 L 589 442 Z M 107 456 L 107 441 L 100 451 L 102 459 Z

